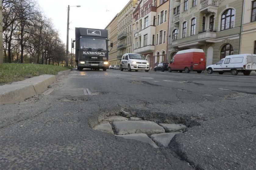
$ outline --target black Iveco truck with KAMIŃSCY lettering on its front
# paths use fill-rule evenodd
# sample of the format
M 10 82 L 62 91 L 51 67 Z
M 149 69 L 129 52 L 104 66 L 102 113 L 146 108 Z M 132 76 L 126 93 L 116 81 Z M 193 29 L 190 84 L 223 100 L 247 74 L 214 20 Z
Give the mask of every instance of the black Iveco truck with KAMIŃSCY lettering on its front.
M 109 52 L 108 30 L 76 28 L 75 33 L 77 70 L 89 68 L 106 71 Z M 112 46 L 113 43 L 110 43 L 110 47 Z

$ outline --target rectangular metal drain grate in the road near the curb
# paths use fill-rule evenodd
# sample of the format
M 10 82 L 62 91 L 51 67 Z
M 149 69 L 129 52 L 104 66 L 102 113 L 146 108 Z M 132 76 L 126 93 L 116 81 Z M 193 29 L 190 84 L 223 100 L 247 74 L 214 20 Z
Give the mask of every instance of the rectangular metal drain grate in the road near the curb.
M 84 96 L 91 95 L 89 89 L 62 89 L 62 90 L 52 90 L 48 93 L 52 96 Z

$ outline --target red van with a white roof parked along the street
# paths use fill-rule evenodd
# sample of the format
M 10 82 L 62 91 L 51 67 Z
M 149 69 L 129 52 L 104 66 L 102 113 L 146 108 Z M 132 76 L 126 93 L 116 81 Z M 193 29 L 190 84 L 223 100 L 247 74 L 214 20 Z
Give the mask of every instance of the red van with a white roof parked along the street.
M 185 70 L 185 73 L 189 73 L 190 71 L 201 73 L 205 70 L 204 51 L 202 49 L 186 49 L 179 51 L 168 65 L 168 71 L 172 72 L 172 70 L 180 71 L 180 73 L 182 73 L 183 70 Z

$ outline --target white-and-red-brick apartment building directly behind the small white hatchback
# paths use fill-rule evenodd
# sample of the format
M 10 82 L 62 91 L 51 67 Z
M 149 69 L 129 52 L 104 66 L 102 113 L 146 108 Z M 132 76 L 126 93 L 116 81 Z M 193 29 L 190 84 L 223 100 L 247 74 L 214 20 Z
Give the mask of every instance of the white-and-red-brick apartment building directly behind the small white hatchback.
M 133 9 L 133 53 L 155 64 L 156 1 L 140 0 Z

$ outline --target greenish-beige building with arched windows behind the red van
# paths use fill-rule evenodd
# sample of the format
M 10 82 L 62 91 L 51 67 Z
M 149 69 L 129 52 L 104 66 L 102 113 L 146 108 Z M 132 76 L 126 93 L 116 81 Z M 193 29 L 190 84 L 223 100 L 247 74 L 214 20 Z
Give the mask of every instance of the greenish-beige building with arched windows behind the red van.
M 238 54 L 243 0 L 171 0 L 168 57 L 203 49 L 206 65 Z

